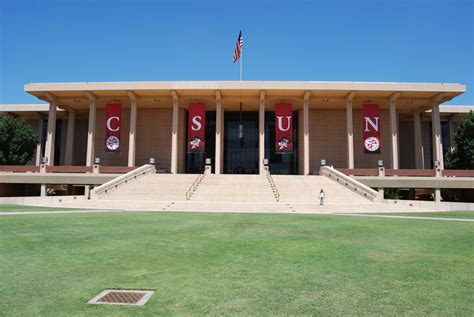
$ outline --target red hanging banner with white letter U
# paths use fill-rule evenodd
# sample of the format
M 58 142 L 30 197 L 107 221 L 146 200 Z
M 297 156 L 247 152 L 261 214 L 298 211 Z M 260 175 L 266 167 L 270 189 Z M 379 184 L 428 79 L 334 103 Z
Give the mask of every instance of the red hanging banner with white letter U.
M 293 106 L 291 103 L 275 105 L 275 151 L 293 152 Z

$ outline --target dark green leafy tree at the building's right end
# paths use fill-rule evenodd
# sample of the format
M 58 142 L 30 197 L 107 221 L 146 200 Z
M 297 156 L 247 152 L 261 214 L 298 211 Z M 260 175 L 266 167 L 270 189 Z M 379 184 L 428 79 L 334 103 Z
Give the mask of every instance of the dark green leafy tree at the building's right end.
M 447 169 L 474 169 L 474 112 L 459 121 L 454 137 L 456 147 L 446 152 Z

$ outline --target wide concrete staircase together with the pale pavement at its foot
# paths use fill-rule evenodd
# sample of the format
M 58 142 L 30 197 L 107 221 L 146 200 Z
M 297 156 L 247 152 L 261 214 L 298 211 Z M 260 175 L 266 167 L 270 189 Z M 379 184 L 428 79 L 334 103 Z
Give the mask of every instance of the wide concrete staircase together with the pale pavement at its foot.
M 148 171 L 149 174 L 145 172 Z M 334 171 L 330 171 L 334 173 Z M 131 172 L 132 173 L 132 172 Z M 133 173 L 132 173 L 133 174 Z M 201 211 L 201 212 L 272 212 L 272 213 L 342 213 L 416 210 L 377 203 L 351 190 L 350 180 L 338 182 L 340 175 L 212 175 L 199 182 L 198 174 L 155 174 L 144 169 L 123 179 L 104 184 L 90 200 L 60 202 L 64 207 Z M 328 174 L 329 175 L 329 174 Z M 336 177 L 336 178 L 334 178 Z M 272 180 L 275 188 L 272 188 Z M 195 182 L 196 181 L 196 182 Z M 186 192 L 196 184 L 187 200 Z M 344 185 L 343 185 L 344 184 Z M 358 185 L 357 185 L 358 186 Z M 107 190 L 105 190 L 107 188 Z M 319 205 L 319 191 L 324 189 L 324 206 Z M 369 189 L 370 190 L 370 189 Z M 279 193 L 279 201 L 275 193 Z M 363 193 L 362 193 L 363 194 Z

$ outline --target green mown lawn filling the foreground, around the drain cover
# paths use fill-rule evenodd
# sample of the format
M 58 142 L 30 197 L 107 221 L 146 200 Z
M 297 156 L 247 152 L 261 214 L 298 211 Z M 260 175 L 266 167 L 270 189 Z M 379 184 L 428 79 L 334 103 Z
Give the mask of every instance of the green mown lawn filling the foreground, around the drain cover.
M 321 215 L 0 217 L 0 315 L 474 315 L 474 224 Z M 144 307 L 88 305 L 154 289 Z

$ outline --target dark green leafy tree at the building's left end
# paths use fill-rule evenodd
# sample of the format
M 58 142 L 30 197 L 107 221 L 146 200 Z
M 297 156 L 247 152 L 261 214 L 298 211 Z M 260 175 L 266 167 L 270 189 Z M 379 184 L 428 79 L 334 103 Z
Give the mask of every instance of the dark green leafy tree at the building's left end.
M 24 119 L 0 113 L 0 165 L 25 165 L 37 143 L 38 135 Z

